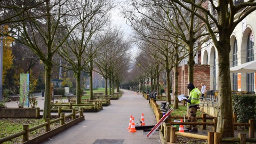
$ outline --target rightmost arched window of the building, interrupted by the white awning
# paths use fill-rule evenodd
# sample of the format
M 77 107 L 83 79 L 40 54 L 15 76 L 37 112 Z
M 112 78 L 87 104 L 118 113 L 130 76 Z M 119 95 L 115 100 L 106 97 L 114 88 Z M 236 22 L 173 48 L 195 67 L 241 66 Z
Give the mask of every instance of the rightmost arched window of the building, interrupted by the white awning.
M 254 60 L 253 45 L 254 45 L 253 34 L 251 32 L 247 39 L 247 54 L 246 54 L 247 62 Z M 247 91 L 253 92 L 254 91 L 254 73 L 247 73 L 246 82 L 247 82 Z

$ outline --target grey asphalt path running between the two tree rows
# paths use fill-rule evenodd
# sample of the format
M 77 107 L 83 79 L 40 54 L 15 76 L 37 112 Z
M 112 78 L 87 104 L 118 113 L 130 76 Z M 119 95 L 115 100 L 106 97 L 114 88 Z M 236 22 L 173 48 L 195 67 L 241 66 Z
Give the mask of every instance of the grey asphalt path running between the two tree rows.
M 134 117 L 134 122 L 138 123 L 143 113 L 146 125 L 155 125 L 156 118 L 148 105 L 148 100 L 143 98 L 142 94 L 122 91 L 124 91 L 123 96 L 118 100 L 110 100 L 110 106 L 103 107 L 98 113 L 84 113 L 85 121 L 43 143 L 161 143 L 159 131 L 149 138 L 146 136 L 148 132 L 143 130 L 129 132 L 127 127 L 131 115 Z

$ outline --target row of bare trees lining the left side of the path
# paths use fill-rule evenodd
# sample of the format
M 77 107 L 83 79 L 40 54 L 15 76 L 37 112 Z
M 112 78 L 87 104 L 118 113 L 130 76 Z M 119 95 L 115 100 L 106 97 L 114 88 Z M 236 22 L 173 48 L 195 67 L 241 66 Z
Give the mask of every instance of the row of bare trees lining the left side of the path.
M 15 43 L 29 47 L 45 69 L 45 102 L 43 118 L 50 117 L 51 78 L 53 66 L 73 71 L 76 77 L 77 103 L 81 103 L 81 73 L 86 71 L 92 78 L 98 71 L 111 83 L 122 82 L 122 74 L 129 67 L 128 41 L 122 31 L 110 28 L 112 0 L 30 0 L 3 1 L 0 6 L 1 25 L 9 25 L 6 35 Z M 19 49 L 19 47 L 17 47 Z M 126 66 L 127 68 L 125 68 Z M 92 97 L 90 81 L 90 99 Z M 107 86 L 106 94 L 107 94 Z

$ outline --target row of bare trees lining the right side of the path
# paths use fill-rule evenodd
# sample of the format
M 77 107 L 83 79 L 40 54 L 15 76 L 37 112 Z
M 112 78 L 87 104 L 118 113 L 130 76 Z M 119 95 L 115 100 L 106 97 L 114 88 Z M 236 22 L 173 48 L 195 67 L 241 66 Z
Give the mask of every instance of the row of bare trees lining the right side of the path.
M 145 76 L 146 65 L 161 63 L 167 75 L 167 102 L 170 102 L 170 72 L 174 68 L 175 93 L 174 108 L 178 108 L 178 65 L 188 58 L 189 82 L 194 81 L 194 57 L 196 51 L 207 42 L 213 42 L 218 50 L 219 59 L 219 115 L 217 131 L 222 137 L 234 137 L 232 100 L 229 73 L 230 36 L 233 30 L 247 15 L 256 9 L 254 0 L 234 4 L 234 1 L 135 1 L 123 7 L 125 18 L 136 31 L 138 47 L 142 55 L 150 55 L 157 62 L 150 64 L 138 60 Z M 143 59 L 142 55 L 140 57 Z M 147 69 L 150 69 L 148 67 Z M 156 67 L 151 67 L 151 70 Z M 141 71 L 141 72 L 142 72 Z M 157 77 L 157 75 L 155 76 Z M 152 79 L 152 77 L 151 77 Z

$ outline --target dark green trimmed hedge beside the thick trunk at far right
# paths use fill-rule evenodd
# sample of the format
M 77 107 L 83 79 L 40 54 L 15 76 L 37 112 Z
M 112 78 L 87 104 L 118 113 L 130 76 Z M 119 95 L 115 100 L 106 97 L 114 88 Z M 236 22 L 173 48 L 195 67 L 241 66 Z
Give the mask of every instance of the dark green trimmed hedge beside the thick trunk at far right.
M 255 94 L 234 94 L 233 111 L 237 114 L 237 122 L 248 123 L 249 119 L 256 116 L 256 95 Z

